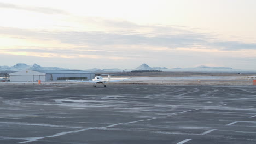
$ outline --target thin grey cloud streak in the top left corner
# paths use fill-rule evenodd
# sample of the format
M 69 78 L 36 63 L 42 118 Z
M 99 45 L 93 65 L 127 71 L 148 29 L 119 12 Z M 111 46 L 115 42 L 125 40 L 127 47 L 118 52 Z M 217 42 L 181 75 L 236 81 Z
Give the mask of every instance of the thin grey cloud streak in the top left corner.
M 28 7 L 28 6 L 21 6 L 21 5 L 15 5 L 15 4 L 1 3 L 1 2 L 0 2 L 0 8 L 26 10 L 26 11 L 33 11 L 37 13 L 43 13 L 43 14 L 68 14 L 66 11 L 60 10 L 60 9 L 54 9 L 54 8 L 48 8 L 48 7 Z

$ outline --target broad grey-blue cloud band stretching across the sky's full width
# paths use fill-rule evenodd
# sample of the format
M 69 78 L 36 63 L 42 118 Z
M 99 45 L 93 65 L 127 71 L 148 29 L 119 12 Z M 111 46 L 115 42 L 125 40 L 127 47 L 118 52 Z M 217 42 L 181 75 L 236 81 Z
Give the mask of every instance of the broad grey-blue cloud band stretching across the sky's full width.
M 112 27 L 125 25 L 125 21 L 107 21 Z M 143 28 L 142 25 L 127 22 L 126 26 L 132 29 Z M 179 29 L 172 26 L 145 26 L 147 32 L 132 33 L 126 31 L 44 31 L 21 28 L 0 27 L 1 35 L 11 37 L 32 38 L 39 40 L 57 40 L 61 43 L 106 47 L 106 45 L 144 45 L 155 47 L 167 47 L 169 49 L 194 48 L 197 49 L 218 49 L 218 50 L 247 50 L 256 49 L 255 43 L 241 43 L 238 41 L 221 41 L 211 34 L 196 33 L 186 29 Z M 159 33 L 158 33 L 159 32 Z M 120 48 L 121 49 L 121 48 Z M 99 49 L 98 49 L 99 50 Z

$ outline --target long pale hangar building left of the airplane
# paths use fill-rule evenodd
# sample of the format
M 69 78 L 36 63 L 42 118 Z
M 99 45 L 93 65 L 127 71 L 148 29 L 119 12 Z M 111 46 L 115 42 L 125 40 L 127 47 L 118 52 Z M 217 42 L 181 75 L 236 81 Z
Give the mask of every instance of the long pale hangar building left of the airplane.
M 10 82 L 91 80 L 95 76 L 82 70 L 21 70 L 9 75 Z

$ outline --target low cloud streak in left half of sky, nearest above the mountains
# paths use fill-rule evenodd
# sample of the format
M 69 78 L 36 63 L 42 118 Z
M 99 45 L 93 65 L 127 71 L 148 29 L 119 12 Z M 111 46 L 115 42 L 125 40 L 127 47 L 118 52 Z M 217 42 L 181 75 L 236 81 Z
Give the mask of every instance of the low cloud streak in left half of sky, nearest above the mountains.
M 129 59 L 131 55 L 123 51 L 109 51 L 99 49 L 88 49 L 86 47 L 40 47 L 40 46 L 18 46 L 11 49 L 0 49 L 0 53 L 9 55 L 37 56 L 37 57 L 63 57 L 63 58 L 92 58 L 92 59 Z M 132 57 L 134 57 L 132 55 Z

